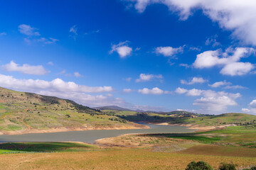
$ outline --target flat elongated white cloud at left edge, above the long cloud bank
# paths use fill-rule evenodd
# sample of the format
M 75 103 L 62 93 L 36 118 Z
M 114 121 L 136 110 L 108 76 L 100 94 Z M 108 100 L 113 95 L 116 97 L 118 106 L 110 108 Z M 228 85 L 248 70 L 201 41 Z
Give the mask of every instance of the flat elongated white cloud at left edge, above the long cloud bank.
M 9 64 L 1 66 L 1 68 L 8 72 L 21 72 L 23 74 L 33 75 L 43 75 L 49 72 L 41 65 L 31 66 L 29 64 L 23 64 L 22 66 L 20 66 L 13 61 L 11 61 Z

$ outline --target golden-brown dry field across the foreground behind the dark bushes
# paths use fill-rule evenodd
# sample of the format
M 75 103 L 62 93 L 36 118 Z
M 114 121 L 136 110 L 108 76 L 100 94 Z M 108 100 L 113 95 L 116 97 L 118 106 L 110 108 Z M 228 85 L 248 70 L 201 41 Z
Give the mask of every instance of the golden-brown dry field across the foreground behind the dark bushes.
M 192 161 L 221 162 L 239 167 L 256 164 L 255 157 L 220 157 L 151 152 L 145 149 L 113 149 L 95 152 L 1 154 L 1 169 L 185 169 Z

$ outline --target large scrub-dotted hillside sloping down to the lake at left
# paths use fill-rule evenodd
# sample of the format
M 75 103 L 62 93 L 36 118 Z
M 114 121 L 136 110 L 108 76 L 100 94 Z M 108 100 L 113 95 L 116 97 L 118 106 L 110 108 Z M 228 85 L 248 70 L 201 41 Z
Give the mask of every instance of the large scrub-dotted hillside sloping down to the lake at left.
M 0 132 L 145 128 L 70 100 L 0 87 Z

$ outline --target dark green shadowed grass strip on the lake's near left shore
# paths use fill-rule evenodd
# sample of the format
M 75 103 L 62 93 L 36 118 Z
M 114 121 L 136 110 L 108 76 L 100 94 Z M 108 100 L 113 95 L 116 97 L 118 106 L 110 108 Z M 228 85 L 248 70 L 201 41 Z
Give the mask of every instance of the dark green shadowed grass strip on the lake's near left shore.
M 12 142 L 0 144 L 0 153 L 12 152 L 85 152 L 95 145 L 74 142 Z

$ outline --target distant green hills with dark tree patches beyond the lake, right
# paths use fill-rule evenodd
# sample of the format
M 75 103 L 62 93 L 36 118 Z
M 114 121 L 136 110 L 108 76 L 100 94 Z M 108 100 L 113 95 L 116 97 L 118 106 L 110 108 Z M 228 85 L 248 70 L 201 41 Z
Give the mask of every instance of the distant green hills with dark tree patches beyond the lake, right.
M 132 122 L 190 124 L 200 126 L 239 125 L 256 128 L 256 116 L 244 113 L 225 113 L 221 115 L 202 115 L 186 111 L 173 111 L 169 113 L 150 113 L 136 111 L 102 110 L 106 115 L 114 115 Z

